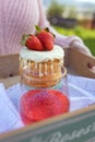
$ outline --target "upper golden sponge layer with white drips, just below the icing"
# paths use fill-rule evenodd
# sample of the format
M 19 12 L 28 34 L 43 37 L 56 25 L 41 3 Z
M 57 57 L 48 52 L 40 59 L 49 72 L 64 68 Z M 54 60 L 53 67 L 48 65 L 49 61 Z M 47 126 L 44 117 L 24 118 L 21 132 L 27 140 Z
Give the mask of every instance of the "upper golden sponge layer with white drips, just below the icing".
M 34 61 L 20 61 L 20 72 L 24 72 L 28 75 L 35 78 L 43 78 L 56 72 L 61 72 L 61 67 L 63 66 L 63 60 L 47 61 L 47 62 L 34 62 Z

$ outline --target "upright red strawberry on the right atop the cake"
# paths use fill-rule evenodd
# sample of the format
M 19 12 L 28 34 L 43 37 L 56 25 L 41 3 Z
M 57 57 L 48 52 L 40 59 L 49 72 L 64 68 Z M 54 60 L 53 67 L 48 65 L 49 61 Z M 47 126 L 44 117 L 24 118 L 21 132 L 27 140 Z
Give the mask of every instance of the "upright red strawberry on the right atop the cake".
M 49 32 L 48 28 L 41 29 L 37 37 L 41 42 L 45 50 L 51 50 L 54 48 L 55 36 Z

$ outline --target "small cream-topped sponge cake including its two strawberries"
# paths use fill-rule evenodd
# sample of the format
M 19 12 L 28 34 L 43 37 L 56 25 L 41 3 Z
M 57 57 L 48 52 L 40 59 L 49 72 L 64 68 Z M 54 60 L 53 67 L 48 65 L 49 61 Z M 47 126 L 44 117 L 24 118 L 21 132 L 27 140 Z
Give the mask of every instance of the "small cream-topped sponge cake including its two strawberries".
M 64 52 L 54 45 L 55 36 L 47 29 L 37 35 L 24 35 L 20 52 L 21 82 L 31 87 L 50 87 L 63 74 Z

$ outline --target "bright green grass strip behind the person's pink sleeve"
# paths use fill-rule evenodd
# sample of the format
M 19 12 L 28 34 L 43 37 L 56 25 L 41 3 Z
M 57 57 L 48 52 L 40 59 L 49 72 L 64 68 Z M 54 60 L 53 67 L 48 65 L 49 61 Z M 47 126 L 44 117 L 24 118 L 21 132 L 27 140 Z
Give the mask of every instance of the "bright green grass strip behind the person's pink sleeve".
M 75 27 L 73 29 L 71 28 L 62 28 L 58 26 L 54 26 L 58 33 L 63 34 L 63 35 L 76 35 L 80 36 L 85 45 L 90 48 L 92 51 L 93 56 L 95 56 L 95 29 L 86 29 L 83 27 Z

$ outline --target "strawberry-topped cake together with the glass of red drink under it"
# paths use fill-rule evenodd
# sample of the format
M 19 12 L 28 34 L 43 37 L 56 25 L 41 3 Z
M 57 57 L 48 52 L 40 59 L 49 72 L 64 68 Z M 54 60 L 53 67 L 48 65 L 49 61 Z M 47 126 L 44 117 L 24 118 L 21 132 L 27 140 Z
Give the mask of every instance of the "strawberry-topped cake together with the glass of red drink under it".
M 37 35 L 24 35 L 20 52 L 20 113 L 25 125 L 69 111 L 64 51 L 54 44 L 54 35 L 43 29 Z

